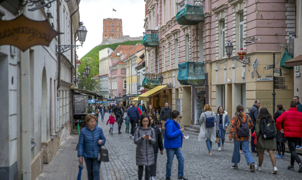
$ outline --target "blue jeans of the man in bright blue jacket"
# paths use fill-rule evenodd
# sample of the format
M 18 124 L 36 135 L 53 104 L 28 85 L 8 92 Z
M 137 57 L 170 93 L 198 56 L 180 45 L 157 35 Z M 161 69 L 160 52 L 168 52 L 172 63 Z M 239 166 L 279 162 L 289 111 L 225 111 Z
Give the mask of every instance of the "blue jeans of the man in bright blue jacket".
M 166 148 L 167 151 L 167 165 L 166 165 L 166 177 L 170 178 L 171 176 L 171 168 L 172 168 L 172 162 L 174 158 L 174 154 L 177 157 L 178 160 L 178 178 L 183 177 L 183 166 L 184 166 L 184 160 L 185 158 L 182 155 L 181 148 Z

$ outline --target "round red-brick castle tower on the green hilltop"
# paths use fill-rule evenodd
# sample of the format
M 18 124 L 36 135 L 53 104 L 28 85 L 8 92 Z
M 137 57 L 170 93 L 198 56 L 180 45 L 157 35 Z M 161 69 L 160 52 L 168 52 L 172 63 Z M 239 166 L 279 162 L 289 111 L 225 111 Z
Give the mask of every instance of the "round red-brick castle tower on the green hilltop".
M 103 40 L 104 38 L 115 38 L 123 35 L 122 19 L 103 19 Z

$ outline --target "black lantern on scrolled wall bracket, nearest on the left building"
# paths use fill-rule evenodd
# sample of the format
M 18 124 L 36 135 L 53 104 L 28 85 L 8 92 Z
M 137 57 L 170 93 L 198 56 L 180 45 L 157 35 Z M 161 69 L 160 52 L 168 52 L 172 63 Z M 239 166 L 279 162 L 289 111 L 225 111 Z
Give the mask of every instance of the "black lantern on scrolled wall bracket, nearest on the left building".
M 67 52 L 72 48 L 79 48 L 79 46 L 83 46 L 84 41 L 86 40 L 86 35 L 87 35 L 87 29 L 85 26 L 83 26 L 83 22 L 79 23 L 80 25 L 78 26 L 77 29 L 77 34 L 78 34 L 78 40 L 80 41 L 81 45 L 56 45 L 56 54 L 61 54 L 63 52 Z M 87 74 L 87 73 L 86 73 Z

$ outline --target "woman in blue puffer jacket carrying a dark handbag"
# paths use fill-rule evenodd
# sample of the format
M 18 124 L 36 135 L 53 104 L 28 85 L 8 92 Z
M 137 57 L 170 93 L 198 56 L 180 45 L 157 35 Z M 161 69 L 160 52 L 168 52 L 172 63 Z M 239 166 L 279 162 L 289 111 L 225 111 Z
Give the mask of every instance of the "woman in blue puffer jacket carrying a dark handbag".
M 81 130 L 78 142 L 78 157 L 79 163 L 83 163 L 83 154 L 87 166 L 88 180 L 100 179 L 100 164 L 97 161 L 97 152 L 101 146 L 104 146 L 106 138 L 103 134 L 103 129 L 96 126 L 97 119 L 94 115 L 86 115 L 85 121 L 87 125 Z

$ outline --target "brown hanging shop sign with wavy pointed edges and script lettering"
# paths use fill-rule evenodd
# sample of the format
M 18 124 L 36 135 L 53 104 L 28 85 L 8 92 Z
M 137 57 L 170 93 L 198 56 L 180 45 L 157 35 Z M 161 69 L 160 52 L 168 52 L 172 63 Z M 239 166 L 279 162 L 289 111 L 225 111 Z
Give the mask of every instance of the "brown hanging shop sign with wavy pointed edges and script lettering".
M 49 46 L 58 34 L 48 20 L 36 21 L 18 16 L 13 20 L 0 20 L 0 46 L 13 45 L 25 51 L 35 45 Z

